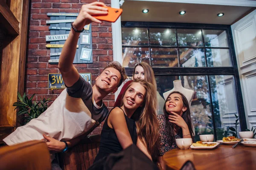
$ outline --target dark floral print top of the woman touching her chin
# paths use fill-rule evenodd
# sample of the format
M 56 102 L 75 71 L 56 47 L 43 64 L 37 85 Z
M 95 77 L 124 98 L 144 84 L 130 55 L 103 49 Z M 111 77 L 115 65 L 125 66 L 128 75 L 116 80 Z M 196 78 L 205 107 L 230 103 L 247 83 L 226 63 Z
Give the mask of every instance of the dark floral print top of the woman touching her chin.
M 169 150 L 177 148 L 176 142 L 172 142 L 171 137 L 167 133 L 167 121 L 163 114 L 157 116 L 159 122 L 159 136 L 160 136 L 160 148 L 159 148 L 159 156 L 163 156 L 164 153 Z M 182 133 L 182 132 L 181 132 Z M 178 133 L 175 135 L 175 139 L 182 138 L 182 134 Z

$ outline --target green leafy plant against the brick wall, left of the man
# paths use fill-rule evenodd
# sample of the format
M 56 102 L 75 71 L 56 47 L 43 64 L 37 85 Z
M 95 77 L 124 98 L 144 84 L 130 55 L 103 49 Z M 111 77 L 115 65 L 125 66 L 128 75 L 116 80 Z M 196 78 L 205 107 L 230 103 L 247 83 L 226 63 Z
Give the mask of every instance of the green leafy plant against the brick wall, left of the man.
M 49 103 L 49 99 L 41 98 L 40 102 L 32 102 L 33 94 L 30 99 L 24 95 L 21 97 L 20 93 L 18 92 L 18 102 L 15 102 L 13 106 L 16 106 L 17 109 L 17 116 L 24 115 L 21 119 L 21 125 L 26 125 L 31 119 L 35 119 L 40 116 L 46 109 L 48 108 L 47 103 Z

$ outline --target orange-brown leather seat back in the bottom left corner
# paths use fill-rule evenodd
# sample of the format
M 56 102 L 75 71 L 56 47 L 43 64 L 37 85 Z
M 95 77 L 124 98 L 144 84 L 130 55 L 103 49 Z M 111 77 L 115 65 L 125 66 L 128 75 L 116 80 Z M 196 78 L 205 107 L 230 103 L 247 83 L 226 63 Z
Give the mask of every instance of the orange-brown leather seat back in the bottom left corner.
M 47 144 L 29 141 L 0 147 L 0 170 L 50 170 Z

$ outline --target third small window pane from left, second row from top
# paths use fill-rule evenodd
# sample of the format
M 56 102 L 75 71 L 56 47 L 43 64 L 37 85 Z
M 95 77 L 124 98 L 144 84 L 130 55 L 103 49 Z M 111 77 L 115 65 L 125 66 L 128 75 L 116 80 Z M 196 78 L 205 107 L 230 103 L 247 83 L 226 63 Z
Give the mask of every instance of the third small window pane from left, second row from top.
M 180 48 L 181 67 L 206 67 L 204 49 Z

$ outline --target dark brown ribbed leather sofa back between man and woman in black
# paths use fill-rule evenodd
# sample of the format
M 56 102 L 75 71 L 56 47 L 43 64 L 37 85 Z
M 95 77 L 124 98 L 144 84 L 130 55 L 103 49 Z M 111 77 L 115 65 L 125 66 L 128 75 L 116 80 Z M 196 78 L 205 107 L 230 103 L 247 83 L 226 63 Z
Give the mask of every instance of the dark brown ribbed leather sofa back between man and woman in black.
M 59 153 L 62 170 L 87 170 L 99 152 L 100 135 L 92 135 L 82 139 L 66 153 Z

